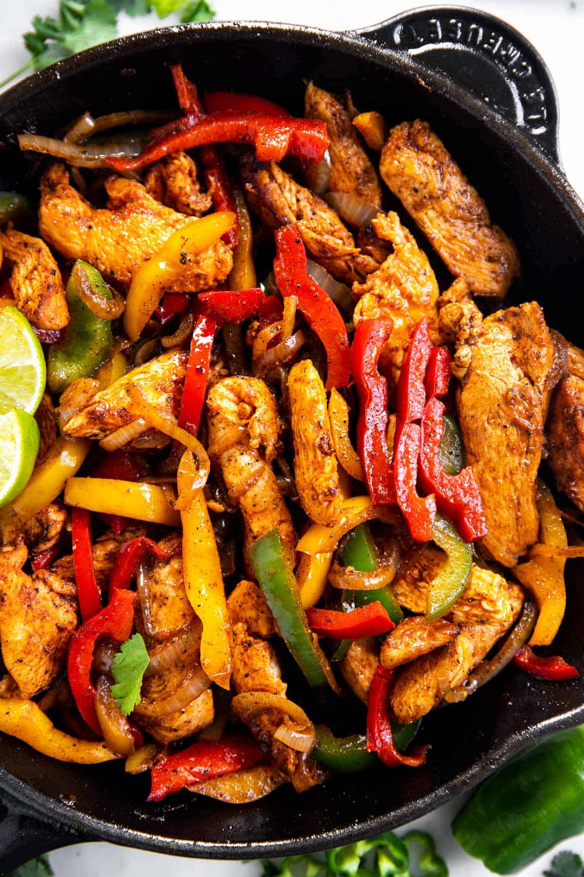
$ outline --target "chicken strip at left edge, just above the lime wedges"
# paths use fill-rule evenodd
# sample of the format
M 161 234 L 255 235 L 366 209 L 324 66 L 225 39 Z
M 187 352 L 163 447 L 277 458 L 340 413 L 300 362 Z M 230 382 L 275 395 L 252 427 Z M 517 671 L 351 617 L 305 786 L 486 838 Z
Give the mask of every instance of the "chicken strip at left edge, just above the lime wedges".
M 69 322 L 65 287 L 45 241 L 14 229 L 0 231 L 3 250 L 13 265 L 11 290 L 18 310 L 39 329 L 63 329 Z

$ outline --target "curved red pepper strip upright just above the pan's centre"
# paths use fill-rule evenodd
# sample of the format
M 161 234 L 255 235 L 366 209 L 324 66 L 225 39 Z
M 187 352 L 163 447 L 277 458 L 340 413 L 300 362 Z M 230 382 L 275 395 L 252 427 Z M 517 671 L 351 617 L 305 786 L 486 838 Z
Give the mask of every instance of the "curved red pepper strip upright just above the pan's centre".
M 350 351 L 345 321 L 333 299 L 306 274 L 306 250 L 294 225 L 276 232 L 274 276 L 282 296 L 296 296 L 306 322 L 327 351 L 327 389 L 348 387 Z

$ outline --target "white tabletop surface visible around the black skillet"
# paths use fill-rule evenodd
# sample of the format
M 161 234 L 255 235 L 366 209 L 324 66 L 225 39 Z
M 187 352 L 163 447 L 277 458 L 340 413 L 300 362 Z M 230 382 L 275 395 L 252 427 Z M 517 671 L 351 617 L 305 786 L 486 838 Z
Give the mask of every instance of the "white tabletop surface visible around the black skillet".
M 214 0 L 218 18 L 251 18 L 317 25 L 341 30 L 371 25 L 405 8 L 407 0 Z M 469 5 L 470 5 L 469 0 Z M 35 14 L 48 15 L 56 9 L 56 0 L 0 0 L 0 80 L 26 61 L 20 35 Z M 410 5 L 421 5 L 412 3 Z M 426 4 L 438 5 L 438 4 Z M 474 4 L 506 19 L 531 39 L 551 68 L 559 93 L 560 145 L 566 175 L 584 197 L 584 162 L 581 160 L 582 114 L 581 81 L 584 61 L 584 2 L 582 0 L 483 0 Z M 120 19 L 120 32 L 131 33 L 156 26 L 153 14 L 145 18 Z M 115 790 L 112 789 L 112 794 Z M 461 806 L 453 801 L 419 819 L 419 828 L 431 831 L 440 853 L 447 859 L 452 877 L 485 877 L 489 872 L 470 859 L 456 844 L 450 831 L 452 816 Z M 407 826 L 408 828 L 410 826 Z M 566 841 L 561 848 L 580 852 L 584 858 L 584 836 Z M 57 877 L 158 877 L 163 869 L 172 869 L 173 877 L 257 877 L 257 863 L 175 859 L 158 853 L 140 852 L 109 844 L 85 844 L 53 852 L 51 862 Z M 552 854 L 526 868 L 522 877 L 540 877 Z

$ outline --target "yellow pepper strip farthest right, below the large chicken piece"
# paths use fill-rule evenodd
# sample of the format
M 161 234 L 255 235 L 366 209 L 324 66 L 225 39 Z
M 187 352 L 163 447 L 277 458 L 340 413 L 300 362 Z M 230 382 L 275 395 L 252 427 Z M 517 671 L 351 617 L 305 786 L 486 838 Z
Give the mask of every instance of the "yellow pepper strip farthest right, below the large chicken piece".
M 566 547 L 566 528 L 551 490 L 538 481 L 539 539 L 544 545 Z M 513 569 L 513 575 L 531 591 L 539 616 L 530 645 L 551 645 L 566 611 L 566 559 L 539 554 Z

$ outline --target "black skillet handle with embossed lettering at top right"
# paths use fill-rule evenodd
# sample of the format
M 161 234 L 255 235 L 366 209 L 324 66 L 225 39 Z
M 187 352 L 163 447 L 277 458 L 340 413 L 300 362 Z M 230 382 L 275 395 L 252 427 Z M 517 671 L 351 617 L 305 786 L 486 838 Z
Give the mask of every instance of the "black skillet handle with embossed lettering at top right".
M 552 75 L 537 49 L 501 18 L 475 9 L 432 6 L 357 33 L 443 70 L 530 134 L 561 169 Z

